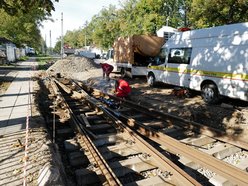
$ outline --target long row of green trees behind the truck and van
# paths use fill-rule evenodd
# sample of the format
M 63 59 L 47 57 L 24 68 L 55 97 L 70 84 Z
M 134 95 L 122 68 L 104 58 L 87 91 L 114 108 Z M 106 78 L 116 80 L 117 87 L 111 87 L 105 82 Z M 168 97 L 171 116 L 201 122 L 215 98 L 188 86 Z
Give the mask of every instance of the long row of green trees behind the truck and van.
M 103 8 L 82 28 L 67 32 L 64 40 L 73 48 L 86 44 L 108 49 L 117 37 L 155 35 L 167 24 L 197 29 L 247 22 L 247 11 L 248 0 L 125 0 L 120 9 Z M 56 47 L 60 51 L 60 44 Z

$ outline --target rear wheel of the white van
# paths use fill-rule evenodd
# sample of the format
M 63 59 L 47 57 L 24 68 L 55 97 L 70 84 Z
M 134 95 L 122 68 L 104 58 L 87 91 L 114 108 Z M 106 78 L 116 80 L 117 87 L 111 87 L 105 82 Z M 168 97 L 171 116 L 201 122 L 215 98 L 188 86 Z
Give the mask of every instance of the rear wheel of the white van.
M 201 95 L 203 100 L 208 104 L 216 104 L 219 102 L 219 91 L 214 84 L 204 85 L 201 90 Z

